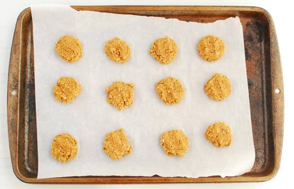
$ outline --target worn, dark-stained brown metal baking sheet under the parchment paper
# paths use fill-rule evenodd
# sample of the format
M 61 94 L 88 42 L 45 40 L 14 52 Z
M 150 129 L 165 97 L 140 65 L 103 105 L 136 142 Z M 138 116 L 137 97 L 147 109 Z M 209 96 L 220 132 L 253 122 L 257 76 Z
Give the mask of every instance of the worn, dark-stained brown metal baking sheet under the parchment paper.
M 11 161 L 16 176 L 27 183 L 206 183 L 258 182 L 278 172 L 283 141 L 284 91 L 275 27 L 259 7 L 235 6 L 72 6 L 76 10 L 161 16 L 183 21 L 213 22 L 239 16 L 243 25 L 255 163 L 235 177 L 200 178 L 82 176 L 37 179 L 34 46 L 31 9 L 17 19 L 9 65 L 7 111 Z M 279 93 L 276 93 L 279 89 Z

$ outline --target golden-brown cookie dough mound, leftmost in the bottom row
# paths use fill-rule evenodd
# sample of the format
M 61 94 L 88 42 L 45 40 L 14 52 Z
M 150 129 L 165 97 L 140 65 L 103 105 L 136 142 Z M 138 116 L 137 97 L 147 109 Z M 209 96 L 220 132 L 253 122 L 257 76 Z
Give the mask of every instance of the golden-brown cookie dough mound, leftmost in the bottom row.
M 72 160 L 78 153 L 77 144 L 76 139 L 70 134 L 56 135 L 51 145 L 51 155 L 63 163 Z

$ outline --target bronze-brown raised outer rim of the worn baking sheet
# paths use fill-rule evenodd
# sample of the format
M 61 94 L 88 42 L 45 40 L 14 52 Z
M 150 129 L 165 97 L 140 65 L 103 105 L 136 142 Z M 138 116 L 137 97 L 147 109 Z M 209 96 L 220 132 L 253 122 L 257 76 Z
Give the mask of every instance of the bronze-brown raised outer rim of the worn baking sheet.
M 271 59 L 271 76 L 272 89 L 278 88 L 279 94 L 273 91 L 267 91 L 272 95 L 273 106 L 273 136 L 274 136 L 274 166 L 273 169 L 262 176 L 241 175 L 235 177 L 221 178 L 219 176 L 201 177 L 201 178 L 164 178 L 164 177 L 69 177 L 69 178 L 46 178 L 36 179 L 23 176 L 19 171 L 17 163 L 18 155 L 18 129 L 19 129 L 19 87 L 20 87 L 20 60 L 21 48 L 25 44 L 21 44 L 21 26 L 22 19 L 25 14 L 30 13 L 30 8 L 25 9 L 19 15 L 16 23 L 14 39 L 11 48 L 11 58 L 9 64 L 8 90 L 7 90 L 7 112 L 8 112 L 8 132 L 9 145 L 11 153 L 11 161 L 16 176 L 27 183 L 223 183 L 223 182 L 259 182 L 273 178 L 278 172 L 280 165 L 280 156 L 283 141 L 283 119 L 284 119 L 284 97 L 283 97 L 283 78 L 280 63 L 280 54 L 278 49 L 278 41 L 275 33 L 273 20 L 270 14 L 259 7 L 234 7 L 234 6 L 73 6 L 76 10 L 92 10 L 97 7 L 105 8 L 106 11 L 116 11 L 124 13 L 125 10 L 156 10 L 156 11 L 174 11 L 174 10 L 197 10 L 197 11 L 252 11 L 264 14 L 269 23 L 270 30 L 270 59 Z M 126 14 L 126 13 L 125 13 Z M 148 15 L 151 16 L 151 15 Z M 16 95 L 11 95 L 12 91 L 16 91 Z

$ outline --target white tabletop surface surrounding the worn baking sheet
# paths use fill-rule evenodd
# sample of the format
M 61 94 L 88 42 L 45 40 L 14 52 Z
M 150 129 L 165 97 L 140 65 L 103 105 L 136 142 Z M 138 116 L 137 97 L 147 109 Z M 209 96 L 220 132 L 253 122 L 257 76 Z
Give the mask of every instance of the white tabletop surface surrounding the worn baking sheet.
M 69 1 L 69 0 L 9 0 L 0 2 L 0 188 L 292 188 L 294 158 L 291 124 L 293 103 L 293 31 L 291 1 L 269 1 L 269 0 L 243 0 L 243 1 L 188 1 L 188 0 L 148 0 L 148 1 Z M 13 39 L 16 19 L 19 13 L 36 3 L 62 3 L 69 5 L 231 5 L 231 6 L 260 6 L 266 9 L 275 23 L 279 41 L 280 56 L 283 68 L 284 98 L 285 98 L 285 122 L 282 159 L 278 174 L 263 183 L 228 183 L 228 184 L 169 184 L 169 185 L 32 185 L 21 182 L 13 173 L 9 152 L 7 132 L 7 76 L 10 58 L 11 43 Z

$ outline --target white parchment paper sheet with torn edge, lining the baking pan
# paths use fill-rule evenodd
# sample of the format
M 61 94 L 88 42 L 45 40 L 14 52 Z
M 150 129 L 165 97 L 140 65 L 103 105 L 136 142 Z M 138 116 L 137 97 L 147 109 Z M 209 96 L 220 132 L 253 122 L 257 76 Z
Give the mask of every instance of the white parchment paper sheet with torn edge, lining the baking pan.
M 255 152 L 251 129 L 242 25 L 238 17 L 209 24 L 157 17 L 76 11 L 68 5 L 31 6 L 34 29 L 38 178 L 83 175 L 163 177 L 235 176 L 248 172 Z M 81 41 L 83 57 L 67 63 L 55 52 L 56 41 L 73 35 Z M 178 54 L 162 65 L 148 50 L 168 35 Z M 210 63 L 200 58 L 197 45 L 206 35 L 225 43 L 223 57 Z M 111 61 L 104 44 L 119 37 L 131 47 L 125 64 Z M 204 84 L 214 73 L 226 75 L 232 92 L 223 101 L 211 100 Z M 62 76 L 75 78 L 82 87 L 74 102 L 56 101 L 53 86 Z M 181 103 L 167 106 L 155 91 L 156 82 L 180 79 Z M 105 87 L 113 81 L 134 83 L 134 103 L 119 112 L 106 101 Z M 217 121 L 227 123 L 232 145 L 216 148 L 204 136 Z M 133 153 L 112 160 L 102 151 L 105 134 L 124 128 Z M 160 145 L 161 133 L 182 130 L 189 138 L 186 155 L 169 157 Z M 61 163 L 51 157 L 54 136 L 70 133 L 78 141 L 75 159 Z

